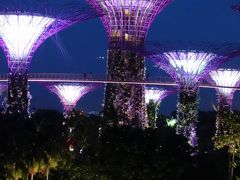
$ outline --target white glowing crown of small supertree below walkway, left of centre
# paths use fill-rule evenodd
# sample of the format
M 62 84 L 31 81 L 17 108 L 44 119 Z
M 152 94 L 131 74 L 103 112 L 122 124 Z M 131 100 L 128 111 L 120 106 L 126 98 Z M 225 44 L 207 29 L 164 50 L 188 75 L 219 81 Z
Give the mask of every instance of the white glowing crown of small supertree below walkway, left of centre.
M 58 95 L 64 106 L 75 107 L 79 99 L 88 93 L 92 87 L 74 84 L 57 84 L 50 86 L 49 89 Z

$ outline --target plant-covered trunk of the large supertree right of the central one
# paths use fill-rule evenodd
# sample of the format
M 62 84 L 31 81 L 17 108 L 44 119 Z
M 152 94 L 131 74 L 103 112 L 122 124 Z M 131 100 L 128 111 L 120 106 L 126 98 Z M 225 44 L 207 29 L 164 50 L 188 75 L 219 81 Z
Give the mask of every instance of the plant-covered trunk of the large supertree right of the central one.
M 188 138 L 192 147 L 197 146 L 198 105 L 198 87 L 186 88 L 186 86 L 180 85 L 177 133 Z

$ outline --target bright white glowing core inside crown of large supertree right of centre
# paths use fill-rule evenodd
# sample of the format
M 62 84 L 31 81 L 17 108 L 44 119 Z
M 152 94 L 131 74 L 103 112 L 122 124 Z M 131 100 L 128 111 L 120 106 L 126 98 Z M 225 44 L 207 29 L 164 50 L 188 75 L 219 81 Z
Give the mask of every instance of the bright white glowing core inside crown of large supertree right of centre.
M 216 57 L 209 53 L 168 52 L 164 54 L 170 64 L 177 70 L 178 75 L 197 76 L 203 73 L 210 60 Z

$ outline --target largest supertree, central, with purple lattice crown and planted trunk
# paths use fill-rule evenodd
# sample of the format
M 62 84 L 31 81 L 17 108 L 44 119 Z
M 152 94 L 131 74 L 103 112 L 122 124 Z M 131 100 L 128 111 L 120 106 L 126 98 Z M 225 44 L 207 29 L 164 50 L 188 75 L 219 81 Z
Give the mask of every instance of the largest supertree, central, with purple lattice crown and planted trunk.
M 154 18 L 172 0 L 86 1 L 104 14 L 101 19 L 109 42 L 107 79 L 144 81 L 144 56 L 132 51 L 131 47 L 143 46 Z M 104 102 L 106 123 L 145 127 L 144 91 L 143 85 L 107 84 Z

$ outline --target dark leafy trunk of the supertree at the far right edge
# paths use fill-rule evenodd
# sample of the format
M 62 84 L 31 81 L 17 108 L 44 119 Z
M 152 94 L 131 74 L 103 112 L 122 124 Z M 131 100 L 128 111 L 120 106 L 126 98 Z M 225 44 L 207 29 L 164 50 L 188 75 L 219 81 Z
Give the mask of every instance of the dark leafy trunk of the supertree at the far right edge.
M 226 131 L 226 126 L 224 124 L 225 119 L 228 119 L 231 116 L 231 106 L 232 98 L 218 93 L 218 109 L 217 109 L 217 118 L 216 118 L 216 136 L 223 135 Z

